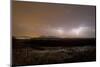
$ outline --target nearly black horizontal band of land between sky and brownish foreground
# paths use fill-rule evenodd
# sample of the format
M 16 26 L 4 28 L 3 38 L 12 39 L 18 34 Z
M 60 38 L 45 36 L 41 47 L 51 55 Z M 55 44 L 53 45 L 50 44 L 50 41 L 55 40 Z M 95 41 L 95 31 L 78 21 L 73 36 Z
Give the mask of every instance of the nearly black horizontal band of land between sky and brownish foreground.
M 16 47 L 39 47 L 39 46 L 96 46 L 95 38 L 31 38 L 16 39 L 12 38 L 12 46 Z

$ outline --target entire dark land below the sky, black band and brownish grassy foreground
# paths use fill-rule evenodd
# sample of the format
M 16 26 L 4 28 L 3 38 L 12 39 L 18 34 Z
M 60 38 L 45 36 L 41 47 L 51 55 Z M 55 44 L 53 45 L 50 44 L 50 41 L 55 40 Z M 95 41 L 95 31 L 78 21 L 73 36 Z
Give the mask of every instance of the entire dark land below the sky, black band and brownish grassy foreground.
M 12 65 L 96 61 L 95 38 L 32 38 L 12 40 Z

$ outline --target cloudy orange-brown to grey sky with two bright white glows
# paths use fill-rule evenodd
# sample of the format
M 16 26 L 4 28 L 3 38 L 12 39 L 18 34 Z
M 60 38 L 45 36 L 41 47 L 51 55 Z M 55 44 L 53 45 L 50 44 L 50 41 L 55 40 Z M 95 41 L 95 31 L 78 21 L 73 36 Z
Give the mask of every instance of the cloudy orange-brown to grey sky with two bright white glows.
M 95 38 L 95 6 L 14 1 L 13 36 Z

